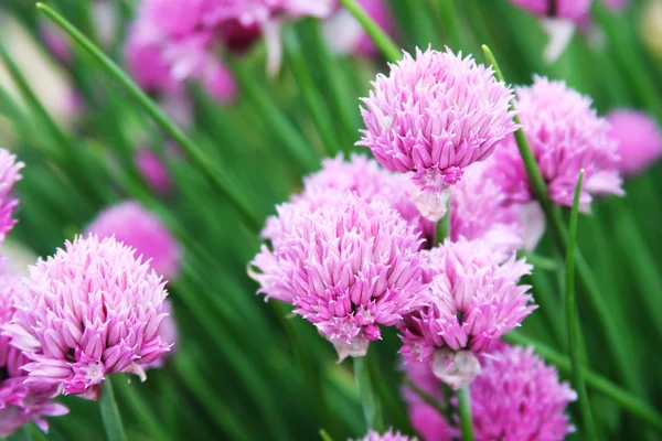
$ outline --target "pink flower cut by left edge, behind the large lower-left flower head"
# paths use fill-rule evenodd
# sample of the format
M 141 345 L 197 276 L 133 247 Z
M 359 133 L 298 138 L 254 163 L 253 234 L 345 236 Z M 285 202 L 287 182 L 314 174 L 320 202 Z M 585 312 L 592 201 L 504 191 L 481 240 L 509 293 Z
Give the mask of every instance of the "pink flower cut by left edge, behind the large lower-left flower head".
M 13 313 L 13 301 L 22 289 L 20 278 L 8 271 L 0 262 L 0 331 Z M 21 367 L 29 359 L 10 345 L 10 338 L 0 335 L 0 437 L 10 437 L 28 421 L 34 421 L 42 430 L 49 424 L 43 417 L 58 417 L 68 409 L 50 400 L 57 395 L 57 387 L 44 384 L 25 384 L 26 373 Z

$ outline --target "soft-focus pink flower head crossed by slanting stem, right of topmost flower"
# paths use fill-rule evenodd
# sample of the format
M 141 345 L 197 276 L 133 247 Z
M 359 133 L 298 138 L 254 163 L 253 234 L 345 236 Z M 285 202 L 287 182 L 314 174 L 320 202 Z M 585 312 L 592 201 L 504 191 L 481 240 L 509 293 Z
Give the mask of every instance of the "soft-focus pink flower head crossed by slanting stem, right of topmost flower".
M 519 87 L 515 107 L 552 200 L 572 206 L 579 171 L 585 170 L 580 202 L 592 195 L 622 195 L 617 142 L 609 123 L 591 108 L 591 100 L 563 82 L 535 76 L 532 86 Z M 514 137 L 496 149 L 493 173 L 514 202 L 533 198 Z

